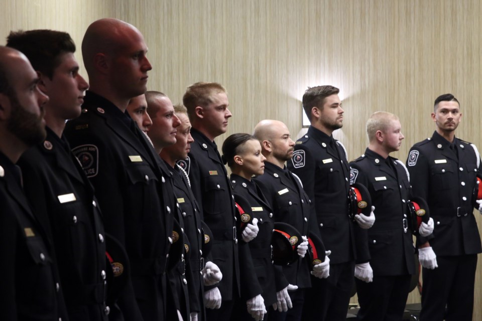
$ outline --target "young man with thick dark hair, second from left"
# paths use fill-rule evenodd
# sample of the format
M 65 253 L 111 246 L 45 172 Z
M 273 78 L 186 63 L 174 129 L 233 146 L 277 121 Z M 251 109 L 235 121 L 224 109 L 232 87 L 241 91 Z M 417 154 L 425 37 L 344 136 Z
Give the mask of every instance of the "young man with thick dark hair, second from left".
M 87 82 L 78 73 L 67 33 L 11 33 L 7 46 L 24 52 L 40 76 L 47 138 L 19 160 L 24 190 L 55 247 L 70 320 L 107 320 L 105 243 L 94 191 L 63 136 L 65 121 L 80 115 Z M 43 188 L 39 190 L 39 186 Z

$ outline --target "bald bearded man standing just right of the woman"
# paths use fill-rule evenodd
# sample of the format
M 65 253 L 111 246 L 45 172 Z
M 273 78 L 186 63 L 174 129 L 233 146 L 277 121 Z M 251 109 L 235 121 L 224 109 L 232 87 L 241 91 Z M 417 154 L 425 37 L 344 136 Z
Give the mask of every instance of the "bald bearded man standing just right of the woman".
M 256 125 L 254 136 L 261 142 L 262 153 L 266 157 L 265 173 L 254 181 L 268 199 L 274 221 L 290 224 L 302 235 L 312 233 L 320 237 L 310 198 L 303 190 L 300 179 L 285 166 L 285 162 L 290 161 L 295 146 L 288 127 L 278 120 L 262 120 Z M 301 320 L 305 291 L 311 287 L 311 262 L 307 262 L 307 258 L 308 255 L 283 266 L 283 273 L 290 284 L 277 293 L 278 301 L 273 305 L 275 311 L 270 311 L 268 320 Z M 313 275 L 318 278 L 328 277 L 329 261 L 326 256 L 325 261 L 314 268 Z M 287 310 L 288 303 L 285 301 L 291 301 L 291 309 Z

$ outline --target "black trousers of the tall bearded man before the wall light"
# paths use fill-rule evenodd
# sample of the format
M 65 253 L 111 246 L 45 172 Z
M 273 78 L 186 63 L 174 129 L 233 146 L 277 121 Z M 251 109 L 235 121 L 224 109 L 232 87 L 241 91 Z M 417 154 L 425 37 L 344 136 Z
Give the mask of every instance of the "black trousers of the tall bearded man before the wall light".
M 330 264 L 330 276 L 326 279 L 311 277 L 311 288 L 306 290 L 303 305 L 303 321 L 345 321 L 355 262 Z

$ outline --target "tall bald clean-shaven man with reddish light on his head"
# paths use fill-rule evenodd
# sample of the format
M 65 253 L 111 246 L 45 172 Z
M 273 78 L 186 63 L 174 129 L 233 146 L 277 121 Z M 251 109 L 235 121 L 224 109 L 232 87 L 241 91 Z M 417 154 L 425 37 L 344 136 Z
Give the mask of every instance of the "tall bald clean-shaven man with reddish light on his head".
M 169 171 L 126 112 L 146 91 L 144 37 L 116 19 L 93 22 L 82 41 L 89 75 L 82 114 L 65 135 L 95 187 L 105 231 L 126 248 L 131 280 L 110 319 L 160 320 L 166 315 L 166 264 L 176 200 Z M 103 277 L 103 275 L 102 275 Z

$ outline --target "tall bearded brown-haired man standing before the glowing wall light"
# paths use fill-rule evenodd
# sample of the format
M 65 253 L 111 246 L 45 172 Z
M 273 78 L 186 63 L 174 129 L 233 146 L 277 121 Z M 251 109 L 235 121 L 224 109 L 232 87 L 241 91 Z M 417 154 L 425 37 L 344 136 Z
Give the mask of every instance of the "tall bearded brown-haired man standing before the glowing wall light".
M 343 109 L 333 86 L 311 87 L 303 95 L 303 109 L 311 122 L 306 135 L 296 141 L 288 168 L 298 175 L 314 203 L 317 223 L 327 250 L 331 250 L 329 277 L 312 278 L 303 320 L 346 319 L 356 259 L 356 229 L 370 228 L 375 216 L 348 217 L 350 167 L 346 149 L 332 136 L 343 125 Z

